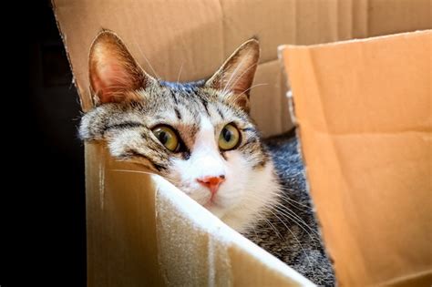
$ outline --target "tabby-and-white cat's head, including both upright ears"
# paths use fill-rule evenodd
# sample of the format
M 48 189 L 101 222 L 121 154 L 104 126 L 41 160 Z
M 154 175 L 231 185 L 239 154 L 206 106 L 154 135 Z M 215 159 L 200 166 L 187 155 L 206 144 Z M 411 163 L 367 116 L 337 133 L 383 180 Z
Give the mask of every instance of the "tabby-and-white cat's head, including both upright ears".
M 243 44 L 208 80 L 149 77 L 117 36 L 99 34 L 90 53 L 98 107 L 81 121 L 85 140 L 170 180 L 242 230 L 275 197 L 273 166 L 248 115 L 258 43 Z

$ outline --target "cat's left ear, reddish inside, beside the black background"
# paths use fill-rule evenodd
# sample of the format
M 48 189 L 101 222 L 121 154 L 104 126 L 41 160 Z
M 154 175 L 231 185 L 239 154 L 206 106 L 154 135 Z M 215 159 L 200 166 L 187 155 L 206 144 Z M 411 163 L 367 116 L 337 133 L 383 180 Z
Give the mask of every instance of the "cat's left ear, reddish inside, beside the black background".
M 100 32 L 93 41 L 88 68 L 90 87 L 97 105 L 129 100 L 136 97 L 130 91 L 145 88 L 156 81 L 139 67 L 121 39 L 108 30 Z

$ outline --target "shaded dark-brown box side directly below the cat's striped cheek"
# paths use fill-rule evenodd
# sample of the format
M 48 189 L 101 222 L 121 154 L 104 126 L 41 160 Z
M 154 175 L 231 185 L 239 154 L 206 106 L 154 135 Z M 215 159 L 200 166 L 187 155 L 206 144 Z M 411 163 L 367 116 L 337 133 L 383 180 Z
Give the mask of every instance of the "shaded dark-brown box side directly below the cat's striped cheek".
M 124 171 L 136 169 L 113 160 L 101 145 L 86 145 L 88 286 L 163 282 L 153 232 L 155 192 L 149 177 Z

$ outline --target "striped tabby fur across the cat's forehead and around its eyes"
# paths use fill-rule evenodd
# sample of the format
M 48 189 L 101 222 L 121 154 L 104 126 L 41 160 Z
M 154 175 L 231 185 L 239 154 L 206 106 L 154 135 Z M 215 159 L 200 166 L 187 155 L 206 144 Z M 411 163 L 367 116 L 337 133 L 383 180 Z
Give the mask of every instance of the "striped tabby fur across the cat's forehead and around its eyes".
M 114 157 L 139 163 L 142 160 L 137 158 L 145 157 L 149 161 L 146 166 L 160 171 L 154 166 L 169 169 L 171 157 L 188 157 L 204 117 L 219 131 L 231 122 L 240 128 L 243 143 L 239 150 L 254 169 L 262 168 L 269 159 L 249 115 L 215 89 L 200 87 L 200 83 L 184 87 L 160 82 L 156 87 L 135 93 L 139 100 L 108 103 L 89 111 L 81 120 L 80 138 L 106 140 Z M 187 148 L 184 154 L 170 153 L 154 137 L 151 128 L 160 124 L 178 130 Z M 218 137 L 215 134 L 215 140 Z

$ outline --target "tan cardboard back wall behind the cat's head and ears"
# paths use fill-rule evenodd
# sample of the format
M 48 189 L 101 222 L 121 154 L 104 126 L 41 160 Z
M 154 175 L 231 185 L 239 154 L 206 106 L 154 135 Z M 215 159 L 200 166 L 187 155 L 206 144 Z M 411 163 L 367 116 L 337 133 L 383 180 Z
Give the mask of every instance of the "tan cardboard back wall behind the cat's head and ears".
M 53 6 L 84 110 L 91 108 L 88 47 L 102 27 L 118 33 L 150 74 L 172 81 L 210 77 L 252 36 L 261 40 L 265 64 L 276 62 L 282 43 L 310 45 L 432 27 L 429 0 L 53 0 Z M 283 110 L 287 103 L 280 68 L 273 69 L 274 77 L 261 77 L 261 68 L 254 83 L 266 86 L 252 88 L 252 117 L 271 136 L 293 124 L 287 113 L 262 118 L 261 107 Z

